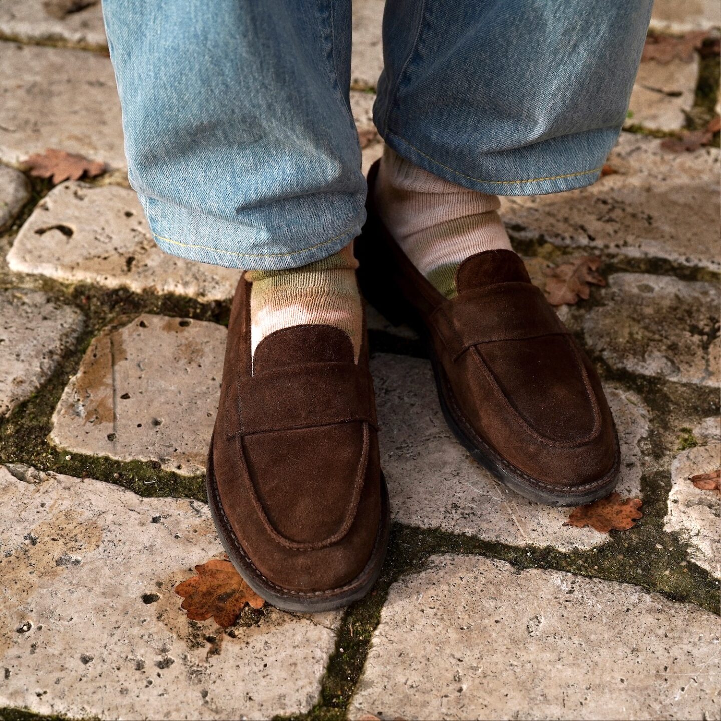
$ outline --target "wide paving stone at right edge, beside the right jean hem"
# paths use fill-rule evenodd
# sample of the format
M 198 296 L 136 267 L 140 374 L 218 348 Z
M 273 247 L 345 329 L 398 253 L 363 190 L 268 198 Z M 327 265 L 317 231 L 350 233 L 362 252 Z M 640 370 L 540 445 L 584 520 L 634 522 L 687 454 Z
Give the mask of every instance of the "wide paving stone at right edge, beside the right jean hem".
M 568 193 L 502 198 L 511 236 L 721 270 L 721 151 L 671 153 L 662 142 L 622 133 L 608 161 L 615 174 Z

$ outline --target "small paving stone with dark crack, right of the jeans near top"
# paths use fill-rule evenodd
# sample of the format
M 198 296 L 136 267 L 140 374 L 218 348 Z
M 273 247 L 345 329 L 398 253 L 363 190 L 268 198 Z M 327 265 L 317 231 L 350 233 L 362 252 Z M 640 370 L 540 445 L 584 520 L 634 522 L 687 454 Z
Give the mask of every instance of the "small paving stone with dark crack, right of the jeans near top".
M 636 76 L 627 124 L 663 131 L 679 130 L 694 105 L 699 79 L 699 56 L 690 63 L 642 62 Z

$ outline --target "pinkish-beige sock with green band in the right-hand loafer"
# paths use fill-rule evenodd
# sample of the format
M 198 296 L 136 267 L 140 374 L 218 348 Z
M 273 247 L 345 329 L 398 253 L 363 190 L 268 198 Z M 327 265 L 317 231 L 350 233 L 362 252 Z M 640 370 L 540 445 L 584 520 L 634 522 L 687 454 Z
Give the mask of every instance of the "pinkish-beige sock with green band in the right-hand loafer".
M 381 220 L 410 262 L 446 298 L 471 255 L 510 247 L 497 195 L 468 190 L 404 160 L 386 146 L 376 180 Z

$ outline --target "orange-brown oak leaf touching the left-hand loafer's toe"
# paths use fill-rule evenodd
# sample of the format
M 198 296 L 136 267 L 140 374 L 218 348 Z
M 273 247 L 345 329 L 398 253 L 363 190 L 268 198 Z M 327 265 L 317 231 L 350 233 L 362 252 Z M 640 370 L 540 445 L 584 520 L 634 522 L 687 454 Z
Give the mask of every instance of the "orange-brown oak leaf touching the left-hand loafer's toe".
M 265 603 L 226 559 L 211 559 L 196 566 L 195 571 L 197 576 L 175 587 L 175 593 L 184 598 L 180 608 L 187 611 L 191 621 L 205 621 L 213 616 L 218 626 L 228 628 L 246 603 L 254 609 Z

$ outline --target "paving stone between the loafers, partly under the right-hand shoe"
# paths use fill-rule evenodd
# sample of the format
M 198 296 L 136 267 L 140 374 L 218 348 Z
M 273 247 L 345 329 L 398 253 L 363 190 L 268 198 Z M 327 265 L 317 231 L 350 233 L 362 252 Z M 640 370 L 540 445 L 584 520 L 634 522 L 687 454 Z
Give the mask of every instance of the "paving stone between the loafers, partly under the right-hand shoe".
M 488 541 L 552 546 L 563 551 L 605 543 L 608 534 L 566 526 L 569 508 L 526 500 L 500 485 L 466 453 L 438 406 L 428 361 L 376 355 L 371 361 L 378 405 L 381 467 L 394 520 L 471 534 Z M 617 490 L 640 496 L 639 442 L 648 433 L 640 397 L 606 386 L 622 452 Z

